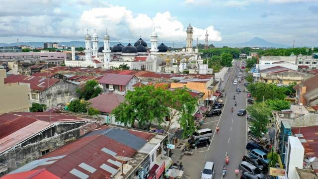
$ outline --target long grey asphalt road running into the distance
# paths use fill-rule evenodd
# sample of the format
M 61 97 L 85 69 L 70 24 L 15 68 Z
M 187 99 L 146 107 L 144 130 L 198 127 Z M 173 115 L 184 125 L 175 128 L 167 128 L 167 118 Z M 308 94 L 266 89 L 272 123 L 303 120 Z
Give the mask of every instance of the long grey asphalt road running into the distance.
M 239 66 L 241 61 L 235 61 L 234 67 Z M 194 150 L 193 156 L 182 158 L 186 178 L 200 179 L 201 171 L 207 161 L 214 162 L 214 179 L 223 179 L 222 168 L 225 164 L 225 155 L 229 154 L 230 163 L 227 166 L 227 174 L 224 179 L 236 179 L 235 169 L 239 166 L 243 155 L 245 155 L 246 146 L 246 116 L 238 116 L 239 109 L 246 108 L 246 92 L 236 92 L 236 87 L 232 83 L 235 76 L 239 76 L 238 68 L 232 68 L 231 76 L 225 86 L 226 97 L 223 97 L 224 108 L 220 116 L 208 117 L 201 128 L 212 128 L 215 132 L 216 126 L 219 126 L 219 134 L 215 133 L 209 148 Z M 244 89 L 244 81 L 239 83 L 239 88 Z M 234 112 L 231 107 L 235 106 L 233 95 L 236 95 L 237 106 Z M 238 176 L 239 178 L 239 176 Z

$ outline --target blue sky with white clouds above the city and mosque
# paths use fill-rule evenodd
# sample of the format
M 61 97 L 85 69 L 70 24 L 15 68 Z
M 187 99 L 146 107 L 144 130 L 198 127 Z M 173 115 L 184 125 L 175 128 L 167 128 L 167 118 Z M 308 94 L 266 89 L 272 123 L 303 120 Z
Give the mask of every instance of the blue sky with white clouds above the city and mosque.
M 184 42 L 186 27 L 204 43 L 254 37 L 285 45 L 318 46 L 318 0 L 0 0 L 0 43 L 102 39 Z

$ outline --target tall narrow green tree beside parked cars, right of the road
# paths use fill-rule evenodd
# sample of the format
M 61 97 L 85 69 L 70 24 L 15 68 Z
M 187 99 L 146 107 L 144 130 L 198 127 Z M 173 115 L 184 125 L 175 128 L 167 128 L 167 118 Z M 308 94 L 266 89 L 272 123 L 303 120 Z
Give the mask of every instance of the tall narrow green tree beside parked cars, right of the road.
M 252 121 L 251 132 L 259 137 L 261 133 L 266 133 L 269 120 L 268 117 L 270 115 L 271 109 L 265 102 L 256 102 L 253 105 L 247 106 L 246 110 L 249 115 L 255 119 Z

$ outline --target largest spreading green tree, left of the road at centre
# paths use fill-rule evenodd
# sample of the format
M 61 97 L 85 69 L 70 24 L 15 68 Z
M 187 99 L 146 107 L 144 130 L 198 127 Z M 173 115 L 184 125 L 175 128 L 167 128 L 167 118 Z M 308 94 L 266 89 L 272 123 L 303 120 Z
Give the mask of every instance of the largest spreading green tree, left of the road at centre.
M 112 114 L 116 122 L 124 125 L 149 128 L 152 122 L 161 127 L 164 118 L 177 120 L 183 129 L 183 135 L 192 134 L 195 130 L 192 114 L 195 112 L 197 100 L 190 95 L 187 89 L 165 90 L 154 86 L 144 86 L 128 91 L 125 101 L 113 109 Z M 172 124 L 169 120 L 167 129 Z

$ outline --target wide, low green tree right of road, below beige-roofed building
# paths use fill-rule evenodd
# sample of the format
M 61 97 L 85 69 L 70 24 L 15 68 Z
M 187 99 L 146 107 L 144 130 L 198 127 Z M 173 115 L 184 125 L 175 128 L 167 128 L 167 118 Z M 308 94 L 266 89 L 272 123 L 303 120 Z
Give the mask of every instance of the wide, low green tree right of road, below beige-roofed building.
M 256 82 L 247 86 L 248 91 L 255 97 L 257 102 L 267 99 L 285 99 L 285 88 L 277 87 L 276 84 Z

